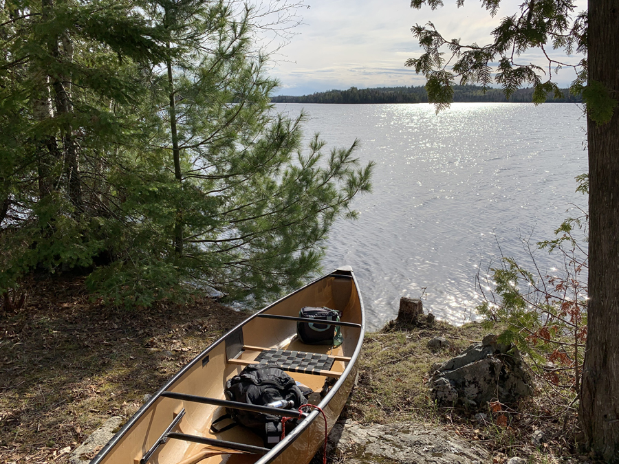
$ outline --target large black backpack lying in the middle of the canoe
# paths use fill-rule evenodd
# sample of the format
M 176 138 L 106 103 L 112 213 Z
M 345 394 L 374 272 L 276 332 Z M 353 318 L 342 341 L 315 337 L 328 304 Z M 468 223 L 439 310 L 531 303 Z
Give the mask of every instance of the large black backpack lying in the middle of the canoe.
M 252 364 L 235 375 L 226 382 L 224 395 L 230 401 L 265 406 L 273 401 L 281 399 L 292 401 L 294 408 L 297 409 L 307 402 L 306 395 L 312 393 L 310 390 L 305 394 L 296 385 L 290 375 L 287 375 L 279 367 L 268 364 Z M 259 412 L 243 411 L 239 409 L 226 408 L 227 414 L 213 421 L 210 427 L 212 432 L 223 432 L 234 427 L 236 424 L 252 428 L 263 440 L 265 448 L 273 448 L 281 439 L 281 417 Z M 215 424 L 224 419 L 232 419 L 235 423 L 222 428 L 215 428 Z M 290 421 L 292 426 L 296 422 Z

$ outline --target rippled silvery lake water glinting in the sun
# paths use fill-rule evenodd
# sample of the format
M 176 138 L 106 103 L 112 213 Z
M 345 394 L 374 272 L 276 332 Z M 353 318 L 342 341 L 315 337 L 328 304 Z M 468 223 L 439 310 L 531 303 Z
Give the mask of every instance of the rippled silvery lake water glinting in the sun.
M 374 329 L 397 315 L 402 296 L 423 295 L 426 309 L 456 324 L 475 318 L 475 275 L 497 262 L 497 240 L 525 261 L 520 237 L 550 238 L 569 203 L 586 206 L 574 192 L 587 171 L 575 104 L 459 103 L 439 115 L 428 104 L 276 108 L 305 108 L 307 137 L 318 131 L 329 146 L 359 138 L 358 157 L 376 161 L 373 193 L 355 201 L 357 221 L 334 225 L 323 261 L 353 267 Z

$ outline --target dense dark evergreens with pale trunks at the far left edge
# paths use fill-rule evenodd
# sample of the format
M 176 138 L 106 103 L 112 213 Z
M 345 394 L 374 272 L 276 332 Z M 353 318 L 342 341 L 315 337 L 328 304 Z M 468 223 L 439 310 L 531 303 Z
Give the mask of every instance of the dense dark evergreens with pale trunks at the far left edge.
M 4 2 L 0 9 L 0 287 L 36 267 L 88 266 L 104 246 L 105 166 L 136 91 L 133 60 L 163 57 L 129 2 Z

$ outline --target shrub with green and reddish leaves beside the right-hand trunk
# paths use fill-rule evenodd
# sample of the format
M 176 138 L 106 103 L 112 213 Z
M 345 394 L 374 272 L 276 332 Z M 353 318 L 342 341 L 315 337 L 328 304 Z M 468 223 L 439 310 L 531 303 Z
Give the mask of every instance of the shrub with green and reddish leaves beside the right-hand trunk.
M 583 176 L 579 176 L 581 187 Z M 529 356 L 528 366 L 561 395 L 572 397 L 580 388 L 587 338 L 587 285 L 580 275 L 587 269 L 587 250 L 575 236 L 586 230 L 587 214 L 567 219 L 554 232 L 556 238 L 537 243 L 539 250 L 558 253 L 564 267 L 560 274 L 543 275 L 530 250 L 535 272 L 503 257 L 491 277 L 477 282 L 484 302 L 477 311 L 488 329 L 499 322 L 499 336 Z M 585 239 L 586 240 L 586 239 Z

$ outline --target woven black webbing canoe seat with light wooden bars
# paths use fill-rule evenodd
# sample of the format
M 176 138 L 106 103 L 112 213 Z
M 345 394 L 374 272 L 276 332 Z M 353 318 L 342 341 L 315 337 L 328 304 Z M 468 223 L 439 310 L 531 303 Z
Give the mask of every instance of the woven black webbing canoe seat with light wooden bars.
M 228 360 L 228 364 L 241 364 L 248 366 L 249 364 L 274 364 L 279 366 L 283 371 L 298 372 L 304 374 L 325 375 L 327 377 L 340 377 L 342 373 L 331 371 L 333 363 L 336 360 L 349 360 L 350 358 L 342 359 L 343 356 L 329 356 L 321 353 L 307 353 L 305 351 L 290 351 L 279 349 L 260 349 L 255 346 L 243 346 L 244 349 L 250 351 L 260 351 L 255 360 Z M 338 359 L 339 358 L 339 359 Z

